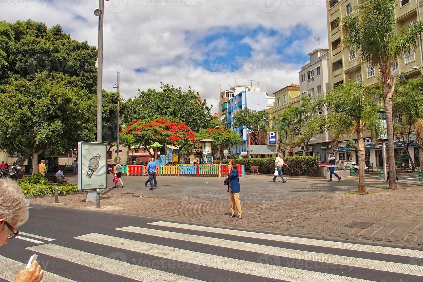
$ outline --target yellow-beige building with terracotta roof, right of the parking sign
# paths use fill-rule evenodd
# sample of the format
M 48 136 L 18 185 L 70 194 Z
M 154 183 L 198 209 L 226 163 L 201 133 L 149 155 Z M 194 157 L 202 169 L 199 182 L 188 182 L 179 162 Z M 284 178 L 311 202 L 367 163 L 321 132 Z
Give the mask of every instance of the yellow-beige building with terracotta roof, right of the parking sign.
M 289 106 L 299 107 L 300 104 L 300 91 L 299 85 L 292 82 L 287 84 L 286 87 L 277 90 L 275 93 L 275 104 L 268 110 L 270 118 L 280 119 L 280 114 L 283 113 Z M 283 156 L 302 156 L 304 154 L 304 148 L 298 143 L 296 137 L 291 136 L 290 129 L 283 131 L 284 143 L 279 148 Z

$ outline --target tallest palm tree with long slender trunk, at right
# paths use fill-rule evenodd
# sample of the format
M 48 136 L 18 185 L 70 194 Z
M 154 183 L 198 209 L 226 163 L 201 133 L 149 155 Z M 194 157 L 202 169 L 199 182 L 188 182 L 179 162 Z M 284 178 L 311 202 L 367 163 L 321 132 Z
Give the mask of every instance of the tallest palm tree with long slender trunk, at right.
M 398 0 L 365 0 L 353 13 L 341 19 L 341 28 L 345 35 L 341 45 L 357 50 L 363 62 L 379 66 L 390 160 L 395 159 L 392 98 L 396 83 L 396 77 L 391 74 L 391 66 L 396 59 L 417 47 L 418 38 L 423 31 L 421 21 L 397 30 L 395 7 L 398 2 Z M 392 174 L 389 188 L 396 189 L 395 162 L 391 161 L 389 165 Z

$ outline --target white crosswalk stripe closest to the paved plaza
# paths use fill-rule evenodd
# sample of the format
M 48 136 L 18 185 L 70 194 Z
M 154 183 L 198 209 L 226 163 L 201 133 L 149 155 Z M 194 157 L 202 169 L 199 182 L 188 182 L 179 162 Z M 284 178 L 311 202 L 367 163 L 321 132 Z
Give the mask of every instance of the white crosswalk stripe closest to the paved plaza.
M 371 245 L 354 244 L 354 243 L 324 241 L 324 240 L 299 238 L 299 237 L 291 237 L 291 236 L 284 236 L 284 235 L 231 230 L 231 229 L 224 229 L 224 228 L 217 228 L 217 227 L 180 224 L 180 223 L 173 223 L 173 222 L 151 222 L 149 223 L 149 225 L 182 228 L 182 229 L 189 229 L 189 230 L 195 230 L 195 231 L 219 233 L 219 234 L 225 234 L 225 235 L 236 235 L 236 236 L 242 236 L 242 237 L 248 237 L 248 238 L 280 241 L 280 242 L 303 244 L 303 245 L 310 245 L 310 246 L 320 246 L 320 247 L 345 249 L 345 250 L 353 250 L 353 251 L 374 252 L 374 253 L 386 254 L 386 255 L 401 255 L 406 257 L 423 258 L 423 251 L 412 250 L 412 249 L 399 249 L 399 248 L 390 248 L 385 246 L 371 246 Z

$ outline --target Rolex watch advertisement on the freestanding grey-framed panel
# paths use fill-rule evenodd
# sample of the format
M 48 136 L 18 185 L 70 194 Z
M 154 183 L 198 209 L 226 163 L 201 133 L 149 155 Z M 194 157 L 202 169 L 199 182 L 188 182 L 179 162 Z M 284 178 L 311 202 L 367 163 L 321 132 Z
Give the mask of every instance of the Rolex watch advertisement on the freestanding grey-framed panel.
M 78 143 L 78 189 L 91 191 L 107 188 L 106 143 Z

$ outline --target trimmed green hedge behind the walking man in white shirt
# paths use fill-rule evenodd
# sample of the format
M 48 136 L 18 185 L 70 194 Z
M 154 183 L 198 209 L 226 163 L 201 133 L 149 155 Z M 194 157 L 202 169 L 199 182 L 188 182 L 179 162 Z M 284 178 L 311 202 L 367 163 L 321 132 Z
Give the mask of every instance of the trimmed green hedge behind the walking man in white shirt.
M 229 159 L 225 159 L 221 162 L 227 164 L 229 161 Z M 234 159 L 234 161 L 237 164 L 244 164 L 245 170 L 249 170 L 251 166 L 258 166 L 260 173 L 275 173 L 275 158 Z M 283 157 L 283 161 L 289 165 L 289 167 L 283 166 L 282 168 L 282 172 L 285 175 L 316 176 L 319 167 L 319 157 L 317 156 Z

